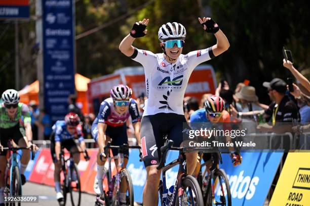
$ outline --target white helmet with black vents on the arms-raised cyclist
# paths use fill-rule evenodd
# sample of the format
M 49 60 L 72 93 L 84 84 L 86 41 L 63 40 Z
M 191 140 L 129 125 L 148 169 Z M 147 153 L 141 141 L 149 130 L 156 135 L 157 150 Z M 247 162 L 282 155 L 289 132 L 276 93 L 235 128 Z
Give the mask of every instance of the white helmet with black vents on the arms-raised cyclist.
M 185 39 L 186 30 L 182 24 L 177 22 L 163 24 L 158 31 L 158 39 L 163 42 L 168 39 Z

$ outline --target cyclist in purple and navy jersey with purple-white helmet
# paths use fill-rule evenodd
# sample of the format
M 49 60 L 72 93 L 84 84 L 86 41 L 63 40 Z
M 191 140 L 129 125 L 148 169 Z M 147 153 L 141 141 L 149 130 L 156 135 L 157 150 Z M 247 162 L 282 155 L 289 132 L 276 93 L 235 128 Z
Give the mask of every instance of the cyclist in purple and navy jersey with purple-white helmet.
M 111 141 L 111 145 L 128 144 L 126 121 L 129 116 L 135 130 L 138 145 L 140 145 L 140 116 L 136 100 L 131 98 L 132 90 L 123 84 L 114 86 L 110 90 L 110 98 L 101 102 L 98 116 L 92 125 L 92 136 L 98 143 L 99 151 L 97 155 L 97 176 L 94 183 L 94 191 L 101 198 L 103 195 L 102 178 L 105 174 L 104 163 L 105 143 Z M 105 138 L 104 138 L 105 137 Z M 118 149 L 112 149 L 113 156 L 118 155 Z M 124 167 L 128 163 L 129 151 L 124 153 Z M 115 165 L 118 165 L 117 160 Z M 126 202 L 126 188 L 121 185 L 121 202 Z

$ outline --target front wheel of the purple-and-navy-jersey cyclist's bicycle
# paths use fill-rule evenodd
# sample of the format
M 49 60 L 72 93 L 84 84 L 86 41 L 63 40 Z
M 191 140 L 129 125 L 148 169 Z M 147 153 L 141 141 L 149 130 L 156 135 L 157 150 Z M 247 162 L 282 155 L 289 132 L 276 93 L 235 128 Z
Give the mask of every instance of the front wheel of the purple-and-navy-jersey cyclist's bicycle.
M 133 206 L 134 205 L 133 185 L 132 185 L 130 172 L 126 168 L 124 168 L 121 171 L 121 187 L 120 187 L 121 191 L 122 191 L 122 186 L 126 187 L 126 192 L 125 192 L 126 193 L 126 205 Z M 122 201 L 121 198 L 120 198 L 120 201 Z

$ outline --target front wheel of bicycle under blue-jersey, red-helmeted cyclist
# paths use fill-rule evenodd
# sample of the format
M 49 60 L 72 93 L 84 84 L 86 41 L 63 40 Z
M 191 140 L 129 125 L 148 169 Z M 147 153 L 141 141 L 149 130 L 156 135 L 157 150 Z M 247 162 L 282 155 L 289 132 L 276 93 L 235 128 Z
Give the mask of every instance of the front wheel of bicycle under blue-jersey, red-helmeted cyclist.
M 81 182 L 78 166 L 74 163 L 71 165 L 71 174 L 69 179 L 69 191 L 72 206 L 79 206 L 81 203 Z

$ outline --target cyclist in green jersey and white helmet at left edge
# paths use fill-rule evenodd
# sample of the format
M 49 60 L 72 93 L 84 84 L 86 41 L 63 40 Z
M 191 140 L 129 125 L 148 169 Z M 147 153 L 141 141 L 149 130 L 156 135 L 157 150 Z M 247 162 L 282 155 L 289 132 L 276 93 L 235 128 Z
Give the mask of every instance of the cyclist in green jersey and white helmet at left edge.
M 19 102 L 19 94 L 14 89 L 8 89 L 2 94 L 3 103 L 0 104 L 0 147 L 7 147 L 9 139 L 18 146 L 27 147 L 32 144 L 31 117 L 27 105 Z M 26 137 L 26 138 L 24 138 Z M 34 149 L 36 146 L 33 144 Z M 5 169 L 7 150 L 0 149 L 0 204 L 3 201 L 5 187 Z M 30 160 L 30 151 L 23 149 L 20 160 L 21 181 L 25 184 L 24 172 Z

